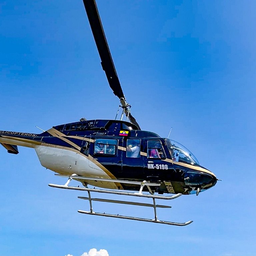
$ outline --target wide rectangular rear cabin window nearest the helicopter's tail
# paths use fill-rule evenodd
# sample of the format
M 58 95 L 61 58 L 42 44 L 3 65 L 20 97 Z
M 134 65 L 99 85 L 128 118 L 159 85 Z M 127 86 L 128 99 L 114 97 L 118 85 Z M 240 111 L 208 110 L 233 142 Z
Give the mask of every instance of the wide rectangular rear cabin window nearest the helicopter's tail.
M 96 139 L 94 154 L 116 155 L 118 140 L 116 139 Z

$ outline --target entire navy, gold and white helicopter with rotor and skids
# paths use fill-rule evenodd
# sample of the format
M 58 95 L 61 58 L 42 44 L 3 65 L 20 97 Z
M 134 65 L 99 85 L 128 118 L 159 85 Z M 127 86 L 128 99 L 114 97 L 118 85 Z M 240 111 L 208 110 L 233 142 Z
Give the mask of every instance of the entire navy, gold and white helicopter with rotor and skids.
M 120 100 L 115 120 L 81 118 L 78 122 L 53 126 L 39 134 L 1 130 L 0 144 L 11 154 L 19 153 L 18 146 L 34 148 L 43 167 L 68 179 L 64 185 L 48 184 L 50 187 L 87 191 L 88 197 L 78 198 L 89 201 L 90 211 L 78 210 L 79 213 L 186 226 L 192 221 L 159 220 L 157 208 L 171 206 L 156 204 L 156 199 L 168 201 L 181 195 L 199 195 L 213 187 L 218 179 L 180 143 L 141 130 L 124 96 L 96 2 L 83 0 L 83 3 L 102 68 L 110 88 Z M 122 114 L 117 120 L 120 108 Z M 126 121 L 122 120 L 124 115 Z M 71 180 L 83 186 L 70 186 Z M 153 204 L 93 198 L 91 192 L 151 198 Z M 94 212 L 93 201 L 152 207 L 154 218 Z

